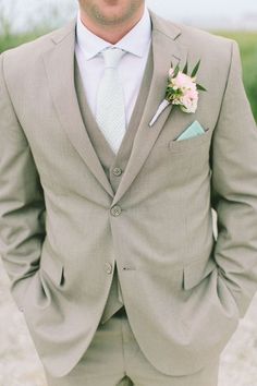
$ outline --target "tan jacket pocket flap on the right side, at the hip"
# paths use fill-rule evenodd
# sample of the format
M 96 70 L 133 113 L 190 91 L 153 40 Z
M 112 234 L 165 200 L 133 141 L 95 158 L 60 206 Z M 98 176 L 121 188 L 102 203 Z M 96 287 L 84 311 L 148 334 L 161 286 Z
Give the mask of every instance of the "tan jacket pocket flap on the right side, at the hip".
M 194 288 L 216 268 L 217 263 L 213 258 L 197 260 L 184 266 L 184 289 Z

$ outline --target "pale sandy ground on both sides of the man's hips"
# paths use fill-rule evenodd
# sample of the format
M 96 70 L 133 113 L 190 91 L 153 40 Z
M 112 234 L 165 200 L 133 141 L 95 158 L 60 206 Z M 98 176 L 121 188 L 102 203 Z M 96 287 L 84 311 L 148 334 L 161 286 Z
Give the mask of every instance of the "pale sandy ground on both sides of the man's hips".
M 0 386 L 46 386 L 23 314 L 9 293 L 1 262 Z M 222 354 L 219 386 L 257 386 L 257 295 Z

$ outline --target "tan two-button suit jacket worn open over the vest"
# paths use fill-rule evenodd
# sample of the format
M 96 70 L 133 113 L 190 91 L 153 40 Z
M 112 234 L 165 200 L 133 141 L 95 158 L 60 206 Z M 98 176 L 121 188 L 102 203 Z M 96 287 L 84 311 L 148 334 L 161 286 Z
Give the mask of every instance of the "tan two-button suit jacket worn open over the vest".
M 0 57 L 1 255 L 54 376 L 93 339 L 114 262 L 135 337 L 166 374 L 219 354 L 256 290 L 257 131 L 237 46 L 151 20 L 154 76 L 115 194 L 79 113 L 75 23 Z M 168 107 L 149 128 L 171 61 L 199 59 L 196 113 Z M 195 120 L 206 133 L 175 142 Z

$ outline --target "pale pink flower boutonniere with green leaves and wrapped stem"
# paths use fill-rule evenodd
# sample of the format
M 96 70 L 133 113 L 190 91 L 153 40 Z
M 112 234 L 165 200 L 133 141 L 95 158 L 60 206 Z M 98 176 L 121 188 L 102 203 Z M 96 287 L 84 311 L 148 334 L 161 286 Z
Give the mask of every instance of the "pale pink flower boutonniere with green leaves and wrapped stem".
M 188 75 L 188 63 L 181 71 L 179 64 L 175 69 L 171 64 L 168 76 L 168 86 L 166 97 L 160 104 L 156 114 L 149 123 L 151 128 L 162 111 L 169 106 L 179 106 L 183 112 L 195 113 L 198 106 L 199 91 L 206 92 L 206 88 L 196 82 L 196 75 L 200 67 L 200 60 L 195 65 L 192 74 Z

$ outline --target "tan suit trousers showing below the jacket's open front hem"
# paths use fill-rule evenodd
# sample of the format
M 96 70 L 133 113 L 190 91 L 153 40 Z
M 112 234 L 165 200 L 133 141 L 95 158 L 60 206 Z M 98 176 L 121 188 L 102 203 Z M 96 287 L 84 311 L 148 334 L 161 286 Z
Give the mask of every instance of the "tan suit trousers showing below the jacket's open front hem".
M 219 358 L 189 375 L 171 376 L 159 372 L 142 352 L 122 310 L 105 324 L 99 324 L 85 355 L 71 373 L 61 378 L 46 374 L 49 386 L 218 385 Z

